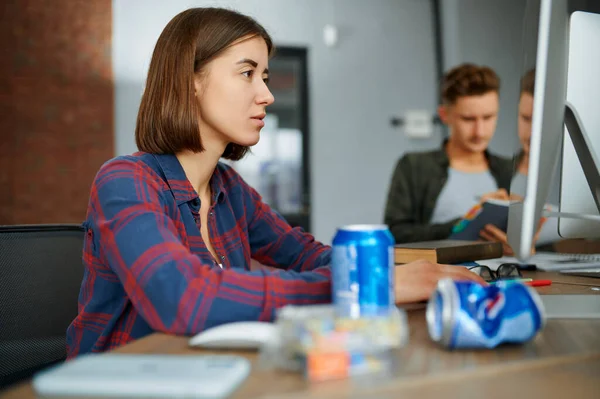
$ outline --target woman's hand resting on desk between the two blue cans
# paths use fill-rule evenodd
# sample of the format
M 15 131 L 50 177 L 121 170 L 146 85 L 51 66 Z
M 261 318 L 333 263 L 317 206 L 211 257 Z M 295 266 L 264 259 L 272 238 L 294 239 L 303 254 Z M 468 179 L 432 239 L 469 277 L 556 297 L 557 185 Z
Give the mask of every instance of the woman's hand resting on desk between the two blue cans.
M 487 285 L 478 275 L 464 266 L 442 265 L 418 260 L 395 267 L 396 303 L 418 302 L 429 299 L 440 279 L 470 280 Z

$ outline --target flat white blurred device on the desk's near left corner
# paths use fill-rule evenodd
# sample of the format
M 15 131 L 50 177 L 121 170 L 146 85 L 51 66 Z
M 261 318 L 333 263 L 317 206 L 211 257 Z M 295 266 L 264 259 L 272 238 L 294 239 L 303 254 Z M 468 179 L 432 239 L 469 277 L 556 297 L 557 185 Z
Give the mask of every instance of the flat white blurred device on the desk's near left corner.
M 250 373 L 234 355 L 86 354 L 33 378 L 39 396 L 196 398 L 229 397 Z

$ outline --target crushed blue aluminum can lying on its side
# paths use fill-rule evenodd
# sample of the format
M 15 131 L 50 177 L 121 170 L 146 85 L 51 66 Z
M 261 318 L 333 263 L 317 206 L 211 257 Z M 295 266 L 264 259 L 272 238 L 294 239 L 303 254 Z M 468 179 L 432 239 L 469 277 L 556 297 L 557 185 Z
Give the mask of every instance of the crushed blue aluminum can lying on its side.
M 454 348 L 494 348 L 529 341 L 545 313 L 538 293 L 521 283 L 494 285 L 442 279 L 427 304 L 429 336 Z

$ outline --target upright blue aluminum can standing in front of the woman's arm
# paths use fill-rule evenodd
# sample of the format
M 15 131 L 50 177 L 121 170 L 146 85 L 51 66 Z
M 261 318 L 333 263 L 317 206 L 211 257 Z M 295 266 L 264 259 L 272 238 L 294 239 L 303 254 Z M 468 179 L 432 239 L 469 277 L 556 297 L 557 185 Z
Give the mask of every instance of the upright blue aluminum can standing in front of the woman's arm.
M 333 238 L 332 297 L 338 317 L 387 316 L 394 306 L 394 238 L 385 225 L 349 225 Z

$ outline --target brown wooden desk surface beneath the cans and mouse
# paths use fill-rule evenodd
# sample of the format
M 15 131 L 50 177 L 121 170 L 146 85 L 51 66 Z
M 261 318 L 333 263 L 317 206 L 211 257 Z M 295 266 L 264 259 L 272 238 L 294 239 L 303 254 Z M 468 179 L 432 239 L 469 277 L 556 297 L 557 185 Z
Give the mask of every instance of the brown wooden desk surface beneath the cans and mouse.
M 600 280 L 557 273 L 529 272 L 528 277 L 557 281 L 541 294 L 600 294 Z M 558 281 L 571 284 L 559 284 Z M 351 380 L 309 384 L 301 375 L 261 370 L 257 354 L 239 353 L 253 362 L 253 372 L 234 398 L 463 398 L 600 397 L 600 319 L 548 320 L 534 340 L 494 350 L 447 351 L 429 339 L 424 309 L 408 312 L 410 343 L 396 352 L 387 378 L 360 384 Z M 186 337 L 152 334 L 116 350 L 121 353 L 219 353 L 190 349 Z M 223 352 L 220 352 L 223 353 Z M 232 352 L 228 352 L 232 353 Z M 4 395 L 34 398 L 28 383 Z

